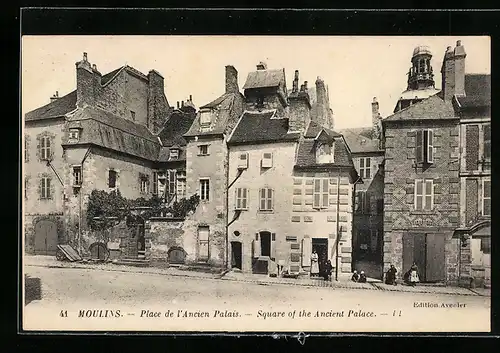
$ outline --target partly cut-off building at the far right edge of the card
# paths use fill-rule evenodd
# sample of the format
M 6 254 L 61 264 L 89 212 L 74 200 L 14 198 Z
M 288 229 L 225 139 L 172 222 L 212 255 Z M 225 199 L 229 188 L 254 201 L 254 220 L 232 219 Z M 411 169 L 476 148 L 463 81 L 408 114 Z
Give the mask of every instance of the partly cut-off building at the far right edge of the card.
M 456 62 L 456 61 L 455 61 Z M 466 74 L 453 97 L 460 117 L 461 272 L 491 284 L 491 76 Z M 464 278 L 467 281 L 467 278 Z

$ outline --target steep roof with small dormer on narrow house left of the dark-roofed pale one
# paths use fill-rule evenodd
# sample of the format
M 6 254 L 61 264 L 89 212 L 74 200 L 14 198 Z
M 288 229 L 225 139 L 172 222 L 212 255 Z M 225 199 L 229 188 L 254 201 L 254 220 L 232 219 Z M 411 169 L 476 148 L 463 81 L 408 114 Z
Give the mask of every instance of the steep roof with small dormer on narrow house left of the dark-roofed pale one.
M 198 114 L 184 136 L 218 135 L 227 132 L 229 128 L 234 126 L 237 119 L 240 117 L 243 111 L 243 102 L 244 97 L 241 93 L 225 93 L 213 102 L 200 107 L 200 109 L 204 107 L 213 109 L 215 119 L 212 121 L 209 129 L 202 130 Z

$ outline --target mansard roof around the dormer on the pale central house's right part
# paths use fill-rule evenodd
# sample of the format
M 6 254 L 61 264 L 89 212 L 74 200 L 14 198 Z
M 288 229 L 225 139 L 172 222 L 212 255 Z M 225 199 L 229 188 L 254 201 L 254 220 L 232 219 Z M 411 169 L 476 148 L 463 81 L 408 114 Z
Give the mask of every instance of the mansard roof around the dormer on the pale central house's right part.
M 351 155 L 347 149 L 344 139 L 339 135 L 334 142 L 333 163 L 329 166 L 354 167 Z M 316 141 L 313 138 L 306 138 L 299 143 L 297 149 L 296 167 L 315 167 L 325 164 L 316 163 Z

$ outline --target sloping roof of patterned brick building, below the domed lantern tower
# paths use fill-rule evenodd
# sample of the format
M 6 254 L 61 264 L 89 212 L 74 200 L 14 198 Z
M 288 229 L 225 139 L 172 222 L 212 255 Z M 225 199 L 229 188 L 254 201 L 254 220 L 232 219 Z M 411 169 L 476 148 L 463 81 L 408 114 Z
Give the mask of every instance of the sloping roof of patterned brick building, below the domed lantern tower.
M 384 118 L 382 123 L 432 119 L 456 119 L 453 104 L 450 101 L 444 101 L 439 95 L 435 94 Z

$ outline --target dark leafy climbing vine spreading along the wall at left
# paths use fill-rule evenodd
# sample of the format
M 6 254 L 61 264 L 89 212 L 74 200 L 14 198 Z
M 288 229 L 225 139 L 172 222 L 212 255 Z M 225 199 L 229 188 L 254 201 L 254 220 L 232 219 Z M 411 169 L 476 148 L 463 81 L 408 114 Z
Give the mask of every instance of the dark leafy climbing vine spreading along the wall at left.
M 123 220 L 133 224 L 137 218 L 148 220 L 161 215 L 185 218 L 196 210 L 199 202 L 200 197 L 196 194 L 167 206 L 163 199 L 157 196 L 129 200 L 124 198 L 120 191 L 108 193 L 103 190 L 93 190 L 87 205 L 87 224 L 93 231 L 104 231 Z

